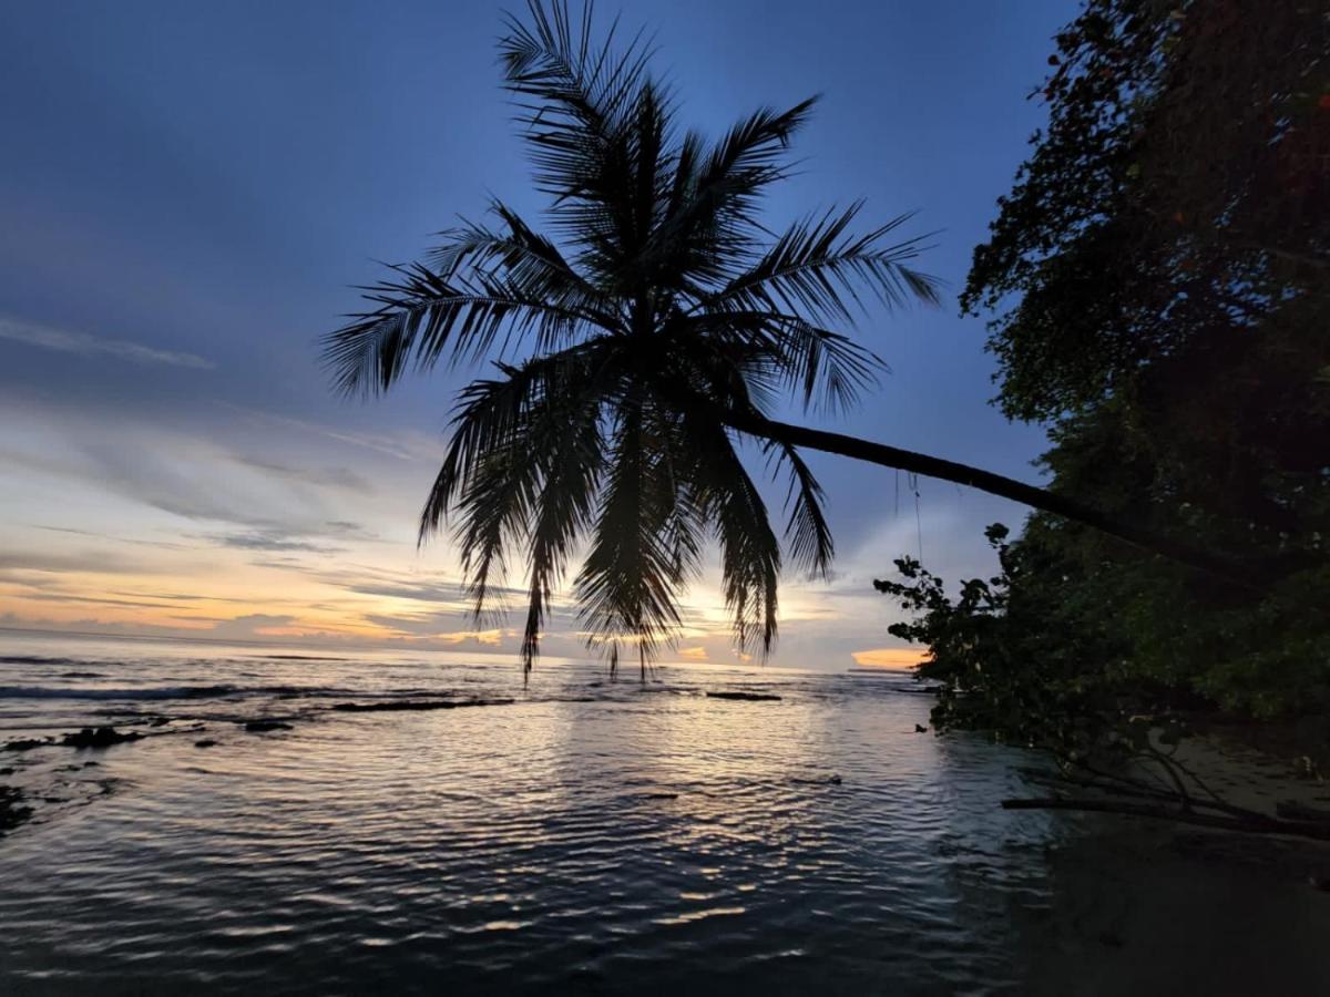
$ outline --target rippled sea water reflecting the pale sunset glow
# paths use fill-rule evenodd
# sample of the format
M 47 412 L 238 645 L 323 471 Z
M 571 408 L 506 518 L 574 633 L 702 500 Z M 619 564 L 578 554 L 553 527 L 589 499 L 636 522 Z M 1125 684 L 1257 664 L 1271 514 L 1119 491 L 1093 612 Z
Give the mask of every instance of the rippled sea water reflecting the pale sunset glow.
M 0 840 L 0 992 L 1111 993 L 1169 875 L 1282 919 L 1232 911 L 1293 982 L 1325 968 L 1330 897 L 1001 811 L 1031 759 L 916 734 L 912 687 L 0 635 L 0 742 L 149 735 L 0 752 L 37 807 Z M 330 709 L 472 698 L 513 702 Z M 1153 992 L 1196 992 L 1173 962 Z

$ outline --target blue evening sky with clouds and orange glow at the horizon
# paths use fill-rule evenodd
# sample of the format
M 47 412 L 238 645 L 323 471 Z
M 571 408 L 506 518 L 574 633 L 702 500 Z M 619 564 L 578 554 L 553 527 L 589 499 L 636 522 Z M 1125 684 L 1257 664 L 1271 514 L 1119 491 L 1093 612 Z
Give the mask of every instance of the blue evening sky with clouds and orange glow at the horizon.
M 499 88 L 505 7 L 0 7 L 0 626 L 515 651 L 520 614 L 477 626 L 452 544 L 415 542 L 476 371 L 351 403 L 318 359 L 375 261 L 420 258 L 491 194 L 539 215 Z M 955 295 L 1041 124 L 1027 97 L 1075 4 L 598 9 L 654 29 L 682 121 L 712 136 L 823 94 L 774 219 L 862 197 L 866 218 L 916 211 L 911 234 L 934 233 L 922 269 L 943 307 L 866 316 L 855 332 L 892 372 L 815 424 L 1037 481 L 1044 433 L 988 404 L 984 323 Z M 785 580 L 770 663 L 915 661 L 872 578 L 920 552 L 943 577 L 988 574 L 983 526 L 1024 510 L 928 480 L 916 502 L 891 471 L 807 460 L 838 557 L 830 582 Z M 662 658 L 739 661 L 714 570 L 685 605 Z M 544 650 L 583 655 L 568 609 Z

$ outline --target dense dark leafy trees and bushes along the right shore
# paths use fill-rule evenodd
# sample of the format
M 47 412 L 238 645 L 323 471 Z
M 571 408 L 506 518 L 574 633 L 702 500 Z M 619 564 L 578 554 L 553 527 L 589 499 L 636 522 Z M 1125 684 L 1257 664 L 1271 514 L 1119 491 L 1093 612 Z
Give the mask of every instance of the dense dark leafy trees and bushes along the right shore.
M 1036 513 L 951 597 L 878 582 L 938 719 L 1077 755 L 1180 709 L 1330 717 L 1330 20 L 1088 0 L 963 295 L 1055 491 L 1270 564 L 1232 585 Z

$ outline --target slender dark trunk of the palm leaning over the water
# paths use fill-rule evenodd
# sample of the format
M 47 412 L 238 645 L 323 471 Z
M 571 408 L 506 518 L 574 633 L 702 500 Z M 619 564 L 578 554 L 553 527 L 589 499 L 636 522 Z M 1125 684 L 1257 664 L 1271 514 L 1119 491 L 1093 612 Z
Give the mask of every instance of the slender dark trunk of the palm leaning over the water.
M 813 429 L 806 425 L 793 425 L 766 419 L 757 413 L 725 412 L 721 421 L 726 425 L 753 436 L 762 436 L 769 440 L 787 443 L 794 447 L 822 451 L 825 453 L 838 453 L 843 457 L 863 460 L 870 464 L 880 464 L 888 468 L 908 471 L 915 475 L 938 477 L 943 481 L 955 481 L 960 485 L 978 488 L 990 495 L 1011 498 L 1012 501 L 1028 505 L 1033 509 L 1051 512 L 1087 526 L 1125 540 L 1129 544 L 1144 548 L 1157 554 L 1162 554 L 1180 564 L 1189 565 L 1208 574 L 1226 578 L 1245 588 L 1258 584 L 1265 572 L 1253 565 L 1242 565 L 1232 558 L 1202 550 L 1192 544 L 1186 544 L 1172 537 L 1162 536 L 1153 529 L 1140 524 L 1120 520 L 1089 505 L 1084 505 L 1075 498 L 1049 492 L 1044 488 L 1027 485 L 991 471 L 972 468 L 968 464 L 959 464 L 954 460 L 931 457 L 927 453 L 888 447 L 884 443 L 861 440 L 857 436 Z

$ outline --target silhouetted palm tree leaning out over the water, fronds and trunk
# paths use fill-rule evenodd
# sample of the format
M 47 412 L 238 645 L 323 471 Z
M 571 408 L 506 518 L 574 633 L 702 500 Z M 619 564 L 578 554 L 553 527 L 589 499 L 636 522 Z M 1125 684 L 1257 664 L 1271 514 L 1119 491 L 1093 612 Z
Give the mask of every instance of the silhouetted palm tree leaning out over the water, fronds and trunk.
M 591 642 L 612 667 L 621 645 L 645 666 L 680 627 L 680 593 L 708 537 L 739 649 L 769 651 L 782 544 L 739 457 L 743 439 L 789 480 L 787 553 L 803 570 L 825 574 L 834 548 L 801 447 L 974 485 L 1214 568 L 1064 496 L 774 420 L 789 396 L 835 411 L 874 383 L 882 362 L 838 330 L 867 296 L 938 302 L 912 266 L 919 245 L 898 237 L 904 217 L 855 230 L 859 203 L 769 231 L 762 197 L 789 175 L 815 98 L 758 110 L 709 144 L 677 125 L 642 37 L 616 53 L 613 28 L 592 44 L 591 20 L 589 5 L 575 19 L 564 3 L 531 0 L 529 21 L 508 17 L 500 41 L 552 235 L 495 201 L 489 223 L 443 233 L 426 263 L 364 288 L 374 307 L 326 340 L 348 393 L 386 391 L 444 358 L 499 358 L 460 395 L 420 537 L 456 517 L 477 615 L 509 557 L 525 553 L 527 671 L 580 552 L 575 594 Z

